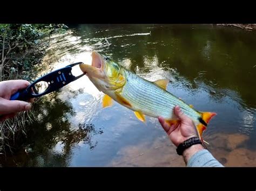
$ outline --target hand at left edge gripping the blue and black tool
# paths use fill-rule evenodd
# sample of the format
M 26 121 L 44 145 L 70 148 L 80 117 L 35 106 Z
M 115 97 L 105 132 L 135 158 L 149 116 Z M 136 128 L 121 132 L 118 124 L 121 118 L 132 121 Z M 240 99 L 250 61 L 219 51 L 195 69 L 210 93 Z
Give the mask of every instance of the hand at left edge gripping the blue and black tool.
M 10 100 L 11 95 L 18 90 L 28 87 L 30 83 L 25 80 L 9 80 L 0 82 L 0 121 L 15 117 L 17 112 L 28 111 L 31 104 L 24 101 Z M 33 102 L 33 98 L 29 102 Z

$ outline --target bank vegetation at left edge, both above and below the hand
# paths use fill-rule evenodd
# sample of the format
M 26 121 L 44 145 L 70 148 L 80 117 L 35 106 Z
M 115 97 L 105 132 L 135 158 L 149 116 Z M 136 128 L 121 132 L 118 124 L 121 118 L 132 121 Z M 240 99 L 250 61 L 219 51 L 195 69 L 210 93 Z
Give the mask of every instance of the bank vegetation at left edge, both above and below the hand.
M 42 62 L 51 34 L 67 28 L 64 24 L 0 24 L 0 81 L 31 81 L 36 76 L 33 67 Z M 0 124 L 0 153 L 5 146 L 15 145 L 33 118 L 32 111 L 21 112 Z

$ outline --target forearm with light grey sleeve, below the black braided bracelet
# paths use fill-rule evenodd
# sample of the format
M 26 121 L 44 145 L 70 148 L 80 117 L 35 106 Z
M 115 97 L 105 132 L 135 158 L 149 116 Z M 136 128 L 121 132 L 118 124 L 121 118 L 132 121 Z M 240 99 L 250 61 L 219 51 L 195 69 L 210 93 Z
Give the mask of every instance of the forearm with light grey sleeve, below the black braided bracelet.
M 223 167 L 201 144 L 187 148 L 183 158 L 188 167 Z

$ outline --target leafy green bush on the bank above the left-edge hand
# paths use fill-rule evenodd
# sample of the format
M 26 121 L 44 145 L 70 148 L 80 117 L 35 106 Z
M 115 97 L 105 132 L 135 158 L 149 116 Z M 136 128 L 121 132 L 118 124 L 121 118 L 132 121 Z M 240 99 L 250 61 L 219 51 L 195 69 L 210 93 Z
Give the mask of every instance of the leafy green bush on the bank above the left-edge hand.
M 0 24 L 0 81 L 15 79 L 40 63 L 49 44 L 46 37 L 66 28 L 63 24 Z

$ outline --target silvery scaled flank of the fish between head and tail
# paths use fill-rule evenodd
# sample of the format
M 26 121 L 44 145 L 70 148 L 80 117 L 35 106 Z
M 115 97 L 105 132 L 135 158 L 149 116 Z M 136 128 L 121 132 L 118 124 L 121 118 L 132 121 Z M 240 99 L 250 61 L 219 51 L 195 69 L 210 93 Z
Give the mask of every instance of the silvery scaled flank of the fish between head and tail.
M 200 117 L 199 112 L 192 109 L 183 101 L 174 97 L 171 93 L 156 86 L 156 84 L 144 80 L 129 71 L 126 72 L 127 81 L 121 95 L 131 103 L 133 110 L 142 111 L 143 114 L 164 118 L 175 118 L 170 108 L 179 105 L 184 114 L 195 121 Z

